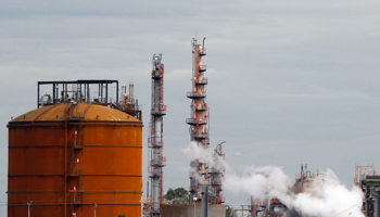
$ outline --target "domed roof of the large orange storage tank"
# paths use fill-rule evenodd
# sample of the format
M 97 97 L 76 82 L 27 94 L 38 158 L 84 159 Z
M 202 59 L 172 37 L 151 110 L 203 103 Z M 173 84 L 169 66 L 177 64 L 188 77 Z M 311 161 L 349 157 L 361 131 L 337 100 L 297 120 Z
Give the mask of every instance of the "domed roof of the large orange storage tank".
M 141 120 L 119 110 L 89 103 L 59 103 L 55 105 L 47 105 L 20 115 L 10 123 L 64 122 L 66 117 L 85 122 L 141 123 Z

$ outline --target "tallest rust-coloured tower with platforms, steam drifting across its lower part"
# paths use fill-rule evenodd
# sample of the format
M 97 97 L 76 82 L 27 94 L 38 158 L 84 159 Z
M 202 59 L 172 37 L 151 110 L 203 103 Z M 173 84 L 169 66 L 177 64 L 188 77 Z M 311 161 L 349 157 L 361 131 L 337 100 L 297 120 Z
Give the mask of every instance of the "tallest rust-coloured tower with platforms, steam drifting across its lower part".
M 187 92 L 187 97 L 192 100 L 191 102 L 191 118 L 187 118 L 186 123 L 190 125 L 191 141 L 195 142 L 198 146 L 208 149 L 208 106 L 205 101 L 206 91 L 205 86 L 207 79 L 204 78 L 204 72 L 206 66 L 203 65 L 203 56 L 206 55 L 203 46 L 197 39 L 192 39 L 192 53 L 193 53 L 193 68 L 192 68 L 192 91 Z M 190 201 L 201 197 L 201 184 L 207 183 L 208 166 L 200 159 L 194 159 L 190 163 Z

